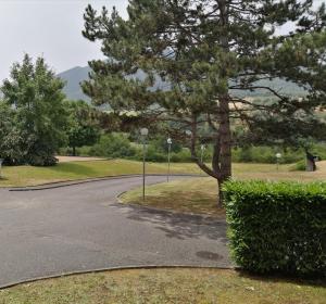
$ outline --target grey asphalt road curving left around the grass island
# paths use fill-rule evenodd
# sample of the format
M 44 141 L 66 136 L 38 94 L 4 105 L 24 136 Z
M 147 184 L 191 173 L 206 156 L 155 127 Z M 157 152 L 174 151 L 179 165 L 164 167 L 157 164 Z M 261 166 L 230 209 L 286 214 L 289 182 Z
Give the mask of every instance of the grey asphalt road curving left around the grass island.
M 0 286 L 118 266 L 230 266 L 223 220 L 116 203 L 118 193 L 140 185 L 130 177 L 0 189 Z

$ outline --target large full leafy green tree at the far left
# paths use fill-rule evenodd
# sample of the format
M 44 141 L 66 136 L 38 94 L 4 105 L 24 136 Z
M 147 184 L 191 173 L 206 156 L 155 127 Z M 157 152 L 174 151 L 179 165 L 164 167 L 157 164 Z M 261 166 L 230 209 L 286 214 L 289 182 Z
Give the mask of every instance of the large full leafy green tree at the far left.
M 63 87 L 42 58 L 34 64 L 26 54 L 22 64 L 13 65 L 11 77 L 1 87 L 7 104 L 2 110 L 12 116 L 12 127 L 4 131 L 0 151 L 9 163 L 57 163 L 55 152 L 66 141 Z

